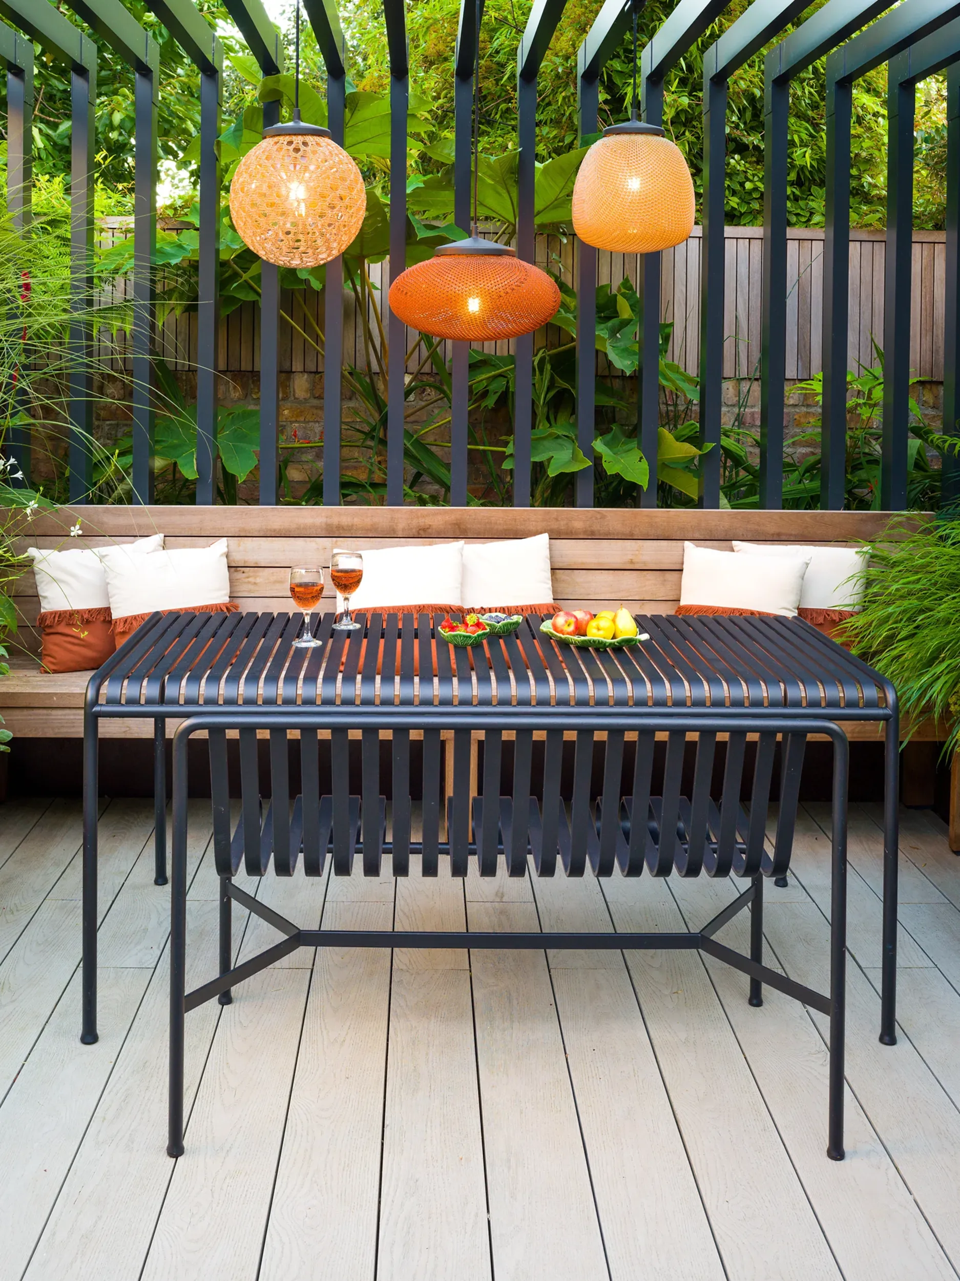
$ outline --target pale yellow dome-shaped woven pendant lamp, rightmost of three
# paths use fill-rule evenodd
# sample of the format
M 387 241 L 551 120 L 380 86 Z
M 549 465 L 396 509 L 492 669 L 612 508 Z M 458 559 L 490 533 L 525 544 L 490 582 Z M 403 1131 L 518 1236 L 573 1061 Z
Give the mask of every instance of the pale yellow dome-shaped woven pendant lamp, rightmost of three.
M 654 124 L 604 129 L 573 184 L 573 231 L 616 254 L 655 254 L 694 229 L 694 182 L 680 147 Z

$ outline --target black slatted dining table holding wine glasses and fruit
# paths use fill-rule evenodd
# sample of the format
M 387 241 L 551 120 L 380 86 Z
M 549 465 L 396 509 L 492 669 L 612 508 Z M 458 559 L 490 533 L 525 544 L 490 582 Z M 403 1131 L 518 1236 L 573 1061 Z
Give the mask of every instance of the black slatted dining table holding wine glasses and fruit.
M 541 734 L 547 740 L 544 788 L 554 789 L 559 789 L 564 734 L 576 738 L 589 731 L 593 737 L 603 730 L 604 716 L 611 717 L 611 725 L 616 717 L 621 734 L 625 717 L 637 731 L 655 719 L 669 738 L 672 717 L 682 729 L 695 714 L 701 730 L 709 730 L 714 720 L 719 731 L 740 724 L 749 725 L 751 734 L 759 730 L 760 747 L 767 721 L 780 730 L 788 722 L 801 737 L 806 724 L 812 733 L 826 721 L 884 724 L 881 1040 L 895 1043 L 899 724 L 896 693 L 877 671 L 809 624 L 772 616 L 643 615 L 637 624 L 649 639 L 605 651 L 558 644 L 539 630 L 541 619 L 536 616 L 526 617 L 516 634 L 486 638 L 472 648 L 439 639 L 439 616 L 360 614 L 362 626 L 356 632 L 334 629 L 334 620 L 332 614 L 314 616 L 320 644 L 298 648 L 293 642 L 302 626 L 300 614 L 156 614 L 91 678 L 84 705 L 84 1041 L 96 1040 L 97 740 L 102 719 L 154 721 L 156 881 L 163 884 L 168 720 L 223 715 L 236 728 L 246 716 L 252 724 L 269 708 L 293 720 L 298 714 L 325 711 L 333 716 L 332 725 L 342 716 L 343 730 L 333 729 L 332 734 L 342 733 L 344 742 L 348 730 L 360 730 L 366 769 L 370 740 L 379 757 L 376 740 L 396 716 L 397 725 L 406 726 L 393 735 L 397 743 L 406 743 L 406 761 L 404 752 L 394 748 L 394 769 L 406 769 L 407 778 L 410 726 L 420 724 L 424 779 L 439 780 L 444 760 L 452 779 L 447 812 L 439 801 L 443 784 L 438 790 L 425 781 L 424 849 L 431 833 L 436 844 L 445 824 L 452 866 L 462 867 L 470 842 L 471 744 L 484 734 L 485 717 L 495 715 L 500 728 L 494 738 L 499 743 L 507 717 L 516 716 L 520 726 L 525 715 L 524 724 L 531 724 L 529 714 L 549 708 L 547 724 L 556 716 L 558 729 Z M 458 714 L 458 728 L 444 734 L 431 728 L 431 717 L 452 710 Z M 379 728 L 364 730 L 365 716 L 376 717 Z M 521 728 L 512 735 L 515 794 L 530 794 L 534 737 L 534 730 Z M 778 731 L 767 738 L 772 758 Z M 499 747 L 484 753 L 485 770 L 499 770 L 498 753 Z M 575 766 L 575 789 L 589 787 L 586 760 L 584 752 Z M 403 792 L 396 780 L 394 774 L 394 807 Z M 799 787 L 799 769 L 794 785 Z M 408 806 L 408 784 L 406 792 Z M 428 794 L 435 803 L 428 804 Z M 515 828 L 511 840 L 525 860 L 526 824 L 517 820 Z

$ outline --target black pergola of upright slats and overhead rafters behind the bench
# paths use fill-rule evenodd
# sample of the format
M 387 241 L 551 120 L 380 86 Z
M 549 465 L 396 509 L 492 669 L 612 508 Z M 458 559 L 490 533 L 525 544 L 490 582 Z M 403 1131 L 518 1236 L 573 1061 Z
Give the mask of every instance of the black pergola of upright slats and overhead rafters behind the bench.
M 197 502 L 212 503 L 216 494 L 216 378 L 219 227 L 221 175 L 218 156 L 223 51 L 216 33 L 192 0 L 147 0 L 148 9 L 168 27 L 201 72 L 200 95 L 200 254 L 197 345 Z M 152 498 L 152 395 L 150 343 L 155 328 L 152 282 L 156 220 L 156 72 L 157 46 L 123 6 L 122 0 L 69 0 L 69 8 L 93 32 L 93 38 L 60 14 L 50 0 L 0 0 L 0 58 L 8 68 L 9 186 L 8 204 L 19 224 L 29 222 L 29 119 L 32 109 L 32 56 L 29 41 L 70 69 L 72 76 L 72 275 L 77 310 L 92 290 L 93 241 L 93 106 L 96 101 L 97 42 L 108 44 L 133 69 L 136 77 L 136 204 L 132 328 L 133 352 L 133 498 Z M 261 0 L 228 0 L 227 8 L 253 54 L 262 74 L 283 69 L 278 32 Z M 532 260 L 535 245 L 535 158 L 538 76 L 563 14 L 564 0 L 535 0 L 517 49 L 518 215 L 517 252 Z M 724 12 L 724 0 L 680 0 L 649 40 L 641 55 L 640 97 L 644 118 L 660 123 L 666 78 Z M 850 104 L 852 83 L 870 69 L 891 64 L 888 255 L 886 281 L 884 347 L 891 375 L 883 416 L 883 506 L 897 509 L 906 501 L 909 432 L 909 257 L 910 192 L 913 169 L 913 91 L 933 72 L 948 69 L 947 141 L 947 282 L 945 297 L 945 432 L 954 433 L 960 419 L 956 363 L 960 354 L 957 274 L 957 208 L 960 206 L 960 82 L 956 73 L 954 20 L 960 3 L 904 0 L 886 17 L 886 0 L 828 0 L 806 23 L 790 32 L 765 55 L 765 193 L 763 254 L 763 329 L 760 356 L 760 502 L 782 505 L 785 354 L 787 327 L 787 122 L 790 83 L 815 60 L 827 64 L 827 215 L 824 243 L 823 354 L 823 469 L 822 506 L 844 505 L 846 437 L 846 368 L 849 314 L 849 183 Z M 700 439 L 712 446 L 700 469 L 700 505 L 721 503 L 721 421 L 724 291 L 724 145 L 727 87 L 733 72 L 792 24 L 800 0 L 754 0 L 749 9 L 704 55 L 704 190 L 700 341 Z M 347 46 L 335 0 L 305 0 L 305 10 L 317 40 L 326 70 L 329 127 L 342 141 L 347 92 Z M 596 131 L 599 77 L 627 29 L 631 8 L 625 0 L 605 0 L 584 40 L 576 68 L 581 137 Z M 474 60 L 483 0 L 461 0 L 457 44 L 452 58 L 454 78 L 454 218 L 462 228 L 470 213 L 470 126 L 474 102 Z M 416 50 L 408 49 L 404 0 L 383 0 L 384 37 L 390 73 L 390 252 L 389 274 L 403 270 L 407 225 L 407 106 L 411 67 Z M 867 28 L 860 31 L 860 28 Z M 945 29 L 946 28 L 946 29 Z M 858 32 L 860 32 L 858 35 Z M 23 36 L 28 40 L 24 40 Z M 274 123 L 279 104 L 268 102 L 264 123 Z M 639 264 L 641 300 L 639 333 L 637 441 L 650 465 L 652 482 L 643 503 L 657 502 L 657 443 L 659 428 L 659 322 L 660 255 L 645 255 Z M 595 434 L 595 287 L 596 251 L 580 245 L 576 254 L 577 311 L 577 439 L 590 457 Z M 260 348 L 260 502 L 278 501 L 279 483 L 279 377 L 278 377 L 278 270 L 261 268 Z M 343 265 L 326 268 L 324 363 L 324 491 L 323 501 L 340 501 L 340 419 L 343 357 Z M 404 346 L 404 328 L 389 315 L 388 338 L 394 351 Z M 84 318 L 70 333 L 70 494 L 82 501 L 92 478 L 91 336 Z M 531 484 L 534 338 L 516 343 L 515 402 L 515 506 L 529 506 Z M 404 368 L 390 363 L 387 411 L 387 502 L 403 502 Z M 452 360 L 451 503 L 467 502 L 468 459 L 468 350 L 454 345 Z M 10 451 L 27 457 L 27 441 L 14 436 Z M 956 482 L 955 460 L 945 460 L 945 497 Z M 577 506 L 594 502 L 593 469 L 575 482 Z

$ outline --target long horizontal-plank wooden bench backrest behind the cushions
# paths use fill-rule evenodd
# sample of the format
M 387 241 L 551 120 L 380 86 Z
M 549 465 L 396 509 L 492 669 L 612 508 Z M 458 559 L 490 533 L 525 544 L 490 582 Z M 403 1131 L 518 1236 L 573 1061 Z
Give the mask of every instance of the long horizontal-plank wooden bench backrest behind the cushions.
M 291 565 L 329 565 L 334 546 L 360 551 L 463 538 L 494 542 L 550 535 L 553 591 L 566 606 L 625 605 L 671 614 L 680 600 L 684 541 L 730 551 L 731 539 L 855 543 L 874 538 L 888 512 L 682 511 L 499 507 L 79 507 L 23 525 L 20 547 L 90 547 L 164 533 L 166 547 L 229 541 L 230 591 L 244 610 L 288 610 Z M 82 535 L 70 538 L 79 521 Z M 430 587 L 424 584 L 425 600 Z M 332 588 L 326 587 L 333 598 Z M 20 640 L 37 648 L 33 574 L 15 588 Z M 532 603 L 532 602 L 531 602 Z

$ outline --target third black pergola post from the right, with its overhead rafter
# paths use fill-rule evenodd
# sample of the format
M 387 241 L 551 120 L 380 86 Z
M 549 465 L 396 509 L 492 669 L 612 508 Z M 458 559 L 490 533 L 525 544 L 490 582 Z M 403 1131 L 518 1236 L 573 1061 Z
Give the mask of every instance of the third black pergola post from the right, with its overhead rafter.
M 823 425 L 820 507 L 846 497 L 846 374 L 850 314 L 850 129 L 854 81 L 960 15 L 959 0 L 902 0 L 827 56 L 827 174 L 823 238 Z M 899 182 L 899 175 L 896 177 Z M 902 470 L 902 477 L 899 474 Z M 906 451 L 895 460 L 888 492 L 906 493 Z

